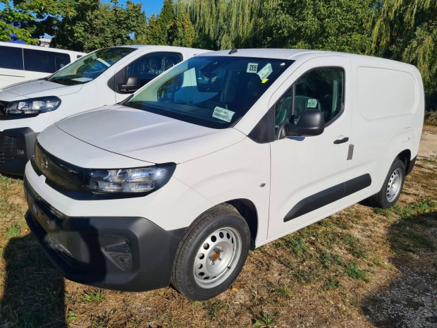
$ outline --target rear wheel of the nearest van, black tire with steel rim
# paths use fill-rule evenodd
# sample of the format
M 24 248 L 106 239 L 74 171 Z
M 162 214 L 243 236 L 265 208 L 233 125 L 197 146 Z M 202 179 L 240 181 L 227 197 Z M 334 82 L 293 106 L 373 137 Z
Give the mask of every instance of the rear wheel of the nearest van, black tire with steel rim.
M 381 190 L 369 197 L 371 207 L 388 208 L 395 205 L 402 192 L 404 181 L 405 164 L 397 158 L 391 164 Z

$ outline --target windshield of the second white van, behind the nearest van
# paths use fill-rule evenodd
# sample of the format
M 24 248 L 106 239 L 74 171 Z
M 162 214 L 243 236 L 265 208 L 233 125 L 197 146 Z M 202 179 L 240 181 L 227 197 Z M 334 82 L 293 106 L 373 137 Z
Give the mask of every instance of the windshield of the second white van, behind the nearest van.
M 48 79 L 63 85 L 78 85 L 94 80 L 114 63 L 135 51 L 135 48 L 106 48 L 83 56 Z

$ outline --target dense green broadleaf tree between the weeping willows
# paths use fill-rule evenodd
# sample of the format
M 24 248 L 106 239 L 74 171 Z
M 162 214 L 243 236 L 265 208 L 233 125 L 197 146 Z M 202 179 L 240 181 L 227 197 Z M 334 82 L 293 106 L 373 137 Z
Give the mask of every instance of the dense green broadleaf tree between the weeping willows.
M 264 8 L 267 47 L 364 54 L 371 47 L 378 0 L 273 0 Z

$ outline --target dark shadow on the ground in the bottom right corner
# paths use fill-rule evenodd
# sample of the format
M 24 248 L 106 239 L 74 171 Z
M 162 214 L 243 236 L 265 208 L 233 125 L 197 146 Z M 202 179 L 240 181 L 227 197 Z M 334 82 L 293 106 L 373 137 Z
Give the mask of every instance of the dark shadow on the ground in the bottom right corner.
M 367 296 L 376 327 L 437 327 L 437 212 L 400 219 L 388 231 L 396 279 Z

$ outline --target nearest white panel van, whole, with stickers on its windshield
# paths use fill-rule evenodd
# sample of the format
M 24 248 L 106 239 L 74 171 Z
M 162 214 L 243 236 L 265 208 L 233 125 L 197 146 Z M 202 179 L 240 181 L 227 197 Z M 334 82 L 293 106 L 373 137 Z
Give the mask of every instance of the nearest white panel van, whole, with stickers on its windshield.
M 405 63 L 210 52 L 40 133 L 25 217 L 68 279 L 204 300 L 250 248 L 367 198 L 395 204 L 423 119 L 421 76 Z

